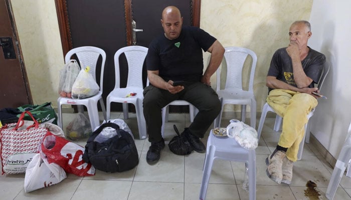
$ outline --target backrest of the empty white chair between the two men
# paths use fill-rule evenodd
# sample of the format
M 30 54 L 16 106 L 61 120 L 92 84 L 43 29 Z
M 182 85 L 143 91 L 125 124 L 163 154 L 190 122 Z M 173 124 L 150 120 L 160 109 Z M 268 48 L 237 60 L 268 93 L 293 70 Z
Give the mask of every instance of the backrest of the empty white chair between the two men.
M 224 58 L 227 63 L 227 79 L 225 88 L 243 89 L 242 72 L 246 58 L 248 55 L 252 58 L 250 80 L 248 91 L 253 92 L 254 75 L 257 63 L 256 53 L 248 48 L 228 46 L 225 47 Z M 217 91 L 220 90 L 221 69 L 217 69 Z

